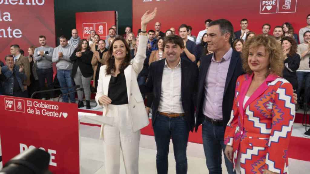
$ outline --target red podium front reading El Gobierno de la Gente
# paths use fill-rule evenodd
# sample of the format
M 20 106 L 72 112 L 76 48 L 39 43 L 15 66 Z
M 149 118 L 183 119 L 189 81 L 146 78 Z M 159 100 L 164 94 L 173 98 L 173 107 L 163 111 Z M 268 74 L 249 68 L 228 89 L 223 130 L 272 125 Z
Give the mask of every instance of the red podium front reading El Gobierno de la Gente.
M 40 148 L 54 174 L 80 172 L 77 104 L 0 95 L 0 118 L 3 164 Z

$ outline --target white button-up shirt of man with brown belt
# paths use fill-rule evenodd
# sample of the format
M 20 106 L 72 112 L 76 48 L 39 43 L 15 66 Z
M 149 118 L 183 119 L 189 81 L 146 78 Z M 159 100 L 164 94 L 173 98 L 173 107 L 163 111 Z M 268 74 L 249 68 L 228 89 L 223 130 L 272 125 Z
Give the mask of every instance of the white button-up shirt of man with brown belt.
M 160 94 L 158 111 L 184 113 L 181 101 L 181 60 L 174 69 L 168 67 L 166 60 L 162 72 L 162 92 Z

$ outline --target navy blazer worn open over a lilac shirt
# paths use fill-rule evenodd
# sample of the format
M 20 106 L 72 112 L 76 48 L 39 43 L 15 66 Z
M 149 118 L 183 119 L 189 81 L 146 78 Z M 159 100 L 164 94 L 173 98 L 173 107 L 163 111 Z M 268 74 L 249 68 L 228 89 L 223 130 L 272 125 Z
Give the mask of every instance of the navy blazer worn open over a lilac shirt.
M 213 54 L 202 56 L 200 59 L 200 71 L 199 71 L 199 79 L 198 79 L 198 93 L 197 93 L 197 108 L 196 108 L 196 128 L 197 132 L 198 126 L 203 123 L 204 116 L 202 113 L 203 102 L 205 100 L 205 82 L 206 75 L 208 69 L 210 67 L 211 59 Z M 233 50 L 232 57 L 229 63 L 225 88 L 224 88 L 224 96 L 222 102 L 222 112 L 223 112 L 223 127 L 226 128 L 226 125 L 230 119 L 230 114 L 232 111 L 233 99 L 235 97 L 235 88 L 237 78 L 244 74 L 242 69 L 242 61 L 240 57 L 240 53 L 236 50 Z

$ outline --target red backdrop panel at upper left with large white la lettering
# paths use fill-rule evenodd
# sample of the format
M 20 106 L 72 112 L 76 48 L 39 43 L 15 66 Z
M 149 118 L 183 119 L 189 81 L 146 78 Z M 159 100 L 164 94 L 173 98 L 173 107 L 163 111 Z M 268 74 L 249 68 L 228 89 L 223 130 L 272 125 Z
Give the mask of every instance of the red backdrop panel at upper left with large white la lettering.
M 13 44 L 18 44 L 27 56 L 29 46 L 40 46 L 40 35 L 46 36 L 48 46 L 55 47 L 54 0 L 0 0 L 0 7 L 1 61 L 4 62 L 4 56 L 10 54 Z M 11 30 L 11 37 L 8 30 Z

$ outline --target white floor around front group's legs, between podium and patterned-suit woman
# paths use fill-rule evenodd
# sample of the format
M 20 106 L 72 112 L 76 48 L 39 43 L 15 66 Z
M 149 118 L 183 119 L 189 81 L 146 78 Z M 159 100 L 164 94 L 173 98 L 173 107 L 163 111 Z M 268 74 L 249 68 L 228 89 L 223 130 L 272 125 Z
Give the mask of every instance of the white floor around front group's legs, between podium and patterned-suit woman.
M 81 136 L 81 173 L 82 174 L 104 174 L 104 151 L 103 141 L 98 139 L 100 128 L 96 126 L 80 125 Z M 139 151 L 139 172 L 156 174 L 156 145 L 153 136 L 141 135 Z M 187 148 L 188 173 L 208 173 L 203 146 L 196 143 L 188 143 Z M 121 160 L 120 173 L 125 173 L 124 163 Z M 224 160 L 224 156 L 223 156 Z M 226 167 L 222 164 L 223 174 L 226 174 Z M 168 173 L 175 173 L 175 159 L 172 142 L 169 149 Z

